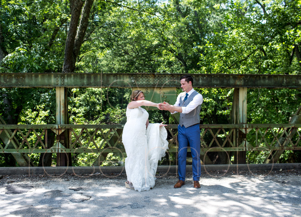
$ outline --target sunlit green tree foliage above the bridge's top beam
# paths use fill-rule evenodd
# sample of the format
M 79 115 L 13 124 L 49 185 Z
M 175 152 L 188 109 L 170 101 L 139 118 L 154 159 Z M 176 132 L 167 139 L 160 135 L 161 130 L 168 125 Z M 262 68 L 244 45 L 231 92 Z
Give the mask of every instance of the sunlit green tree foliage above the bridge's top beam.
M 94 1 L 76 72 L 299 74 L 299 1 L 122 5 Z M 9 54 L 0 70 L 60 72 L 68 1 L 2 1 L 0 10 Z

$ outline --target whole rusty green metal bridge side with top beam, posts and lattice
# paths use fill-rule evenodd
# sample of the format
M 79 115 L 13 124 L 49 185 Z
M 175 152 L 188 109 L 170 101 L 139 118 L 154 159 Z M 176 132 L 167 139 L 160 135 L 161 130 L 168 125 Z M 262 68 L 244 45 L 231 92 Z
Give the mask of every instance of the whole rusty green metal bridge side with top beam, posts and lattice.
M 289 124 L 248 124 L 248 88 L 301 88 L 301 75 L 269 74 L 192 74 L 194 87 L 233 88 L 231 124 L 201 125 L 201 159 L 207 153 L 235 152 L 234 161 L 245 164 L 248 151 L 265 152 L 265 163 L 277 161 L 285 150 L 301 150 L 301 106 Z M 123 125 L 68 125 L 67 89 L 71 87 L 141 89 L 147 100 L 175 102 L 181 74 L 103 74 L 103 73 L 2 73 L 2 88 L 55 88 L 55 125 L 6 125 L 0 117 L 0 153 L 11 153 L 20 166 L 29 165 L 31 153 L 57 153 L 57 165 L 66 166 L 65 155 L 99 153 L 98 162 L 107 153 L 124 153 Z M 177 152 L 177 125 L 169 125 L 169 152 Z M 55 145 L 47 144 L 48 133 L 56 135 Z M 53 144 L 53 143 L 51 143 Z M 233 156 L 233 153 L 231 154 Z M 208 161 L 209 162 L 209 161 Z M 95 162 L 95 164 L 97 164 Z

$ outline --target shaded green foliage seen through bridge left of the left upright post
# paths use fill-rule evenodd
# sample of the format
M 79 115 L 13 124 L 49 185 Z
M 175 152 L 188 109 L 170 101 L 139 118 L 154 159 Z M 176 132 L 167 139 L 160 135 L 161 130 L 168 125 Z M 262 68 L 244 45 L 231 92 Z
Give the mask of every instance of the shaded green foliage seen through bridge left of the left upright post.
M 55 123 L 55 89 L 45 88 L 11 88 L 0 90 L 0 116 L 7 124 L 54 124 Z M 34 147 L 37 137 L 31 131 L 20 129 L 23 135 L 28 133 L 27 141 Z M 42 130 L 36 130 L 41 134 Z M 19 141 L 23 140 L 20 132 L 17 131 L 15 137 Z M 42 137 L 44 140 L 44 137 Z M 24 143 L 27 148 L 27 143 Z M 42 148 L 40 143 L 36 148 Z M 40 154 L 32 153 L 29 155 L 30 161 L 38 165 Z M 0 155 L 0 166 L 7 166 L 7 162 L 14 163 L 11 156 Z M 15 164 L 15 163 L 14 163 Z

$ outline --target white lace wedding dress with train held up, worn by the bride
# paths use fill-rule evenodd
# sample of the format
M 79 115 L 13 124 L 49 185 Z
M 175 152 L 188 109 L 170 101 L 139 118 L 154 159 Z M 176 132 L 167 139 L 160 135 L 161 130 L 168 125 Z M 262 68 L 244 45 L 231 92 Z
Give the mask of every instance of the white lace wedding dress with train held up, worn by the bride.
M 148 124 L 148 113 L 141 107 L 126 109 L 122 141 L 126 149 L 125 169 L 136 191 L 148 191 L 155 185 L 158 161 L 168 149 L 167 131 L 160 124 Z

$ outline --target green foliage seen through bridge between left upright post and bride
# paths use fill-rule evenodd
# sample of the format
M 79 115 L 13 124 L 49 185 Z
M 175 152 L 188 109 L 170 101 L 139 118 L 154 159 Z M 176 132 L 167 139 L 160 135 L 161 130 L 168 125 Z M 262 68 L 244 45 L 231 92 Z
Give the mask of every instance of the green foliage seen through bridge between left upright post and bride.
M 71 89 L 69 98 L 70 122 L 73 124 L 120 124 L 125 117 L 125 108 L 129 102 L 129 96 L 129 89 Z M 94 130 L 90 130 L 90 135 L 93 134 Z M 75 129 L 74 131 L 79 135 L 81 130 Z M 104 130 L 104 134 L 107 133 L 108 130 Z M 112 135 L 113 132 L 110 133 L 110 136 Z M 83 146 L 88 149 L 95 149 L 103 148 L 105 145 L 100 131 L 94 137 L 98 147 L 95 147 L 94 143 L 89 141 L 86 131 L 81 133 L 80 140 L 81 145 L 77 144 L 76 148 Z M 73 153 L 72 164 L 73 166 L 92 166 L 94 161 L 97 161 L 98 155 L 99 153 Z M 119 161 L 122 161 L 119 156 L 109 153 L 102 166 L 119 165 Z

